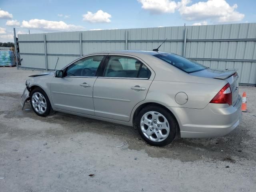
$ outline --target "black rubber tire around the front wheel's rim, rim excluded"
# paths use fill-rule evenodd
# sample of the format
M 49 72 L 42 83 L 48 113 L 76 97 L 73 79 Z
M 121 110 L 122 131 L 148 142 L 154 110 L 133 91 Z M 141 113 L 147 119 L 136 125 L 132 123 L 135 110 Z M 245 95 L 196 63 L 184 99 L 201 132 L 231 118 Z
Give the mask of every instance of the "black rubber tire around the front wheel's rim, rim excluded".
M 45 110 L 44 113 L 38 113 L 38 112 L 34 109 L 34 107 L 33 107 L 33 104 L 32 104 L 32 96 L 33 96 L 33 94 L 34 94 L 35 92 L 41 93 L 41 94 L 44 96 L 45 100 L 46 100 L 47 106 L 46 106 L 46 110 Z M 42 116 L 42 117 L 46 117 L 46 116 L 48 116 L 48 115 L 52 115 L 52 114 L 54 114 L 54 112 L 55 112 L 55 111 L 52 109 L 52 106 L 51 106 L 51 103 L 50 103 L 50 100 L 49 100 L 47 94 L 44 92 L 44 90 L 42 90 L 42 89 L 39 88 L 39 87 L 33 89 L 32 92 L 30 92 L 30 105 L 31 105 L 31 108 L 33 109 L 33 111 L 34 111 L 37 115 Z

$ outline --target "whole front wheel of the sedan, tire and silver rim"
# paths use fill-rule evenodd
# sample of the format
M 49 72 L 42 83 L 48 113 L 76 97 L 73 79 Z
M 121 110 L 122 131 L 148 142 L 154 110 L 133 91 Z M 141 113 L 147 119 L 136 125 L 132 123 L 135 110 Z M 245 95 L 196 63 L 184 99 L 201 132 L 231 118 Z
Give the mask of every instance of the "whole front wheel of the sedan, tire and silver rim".
M 48 96 L 41 88 L 32 90 L 30 93 L 30 104 L 33 111 L 39 116 L 46 117 L 54 113 Z

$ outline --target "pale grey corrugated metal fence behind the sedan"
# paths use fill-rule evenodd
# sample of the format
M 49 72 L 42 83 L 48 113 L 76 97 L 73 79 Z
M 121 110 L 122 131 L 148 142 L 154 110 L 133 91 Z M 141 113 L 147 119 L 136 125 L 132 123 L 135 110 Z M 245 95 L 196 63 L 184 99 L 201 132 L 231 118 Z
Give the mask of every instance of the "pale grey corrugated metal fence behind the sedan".
M 22 68 L 53 70 L 106 50 L 173 52 L 211 68 L 237 68 L 240 84 L 256 85 L 256 23 L 19 34 Z

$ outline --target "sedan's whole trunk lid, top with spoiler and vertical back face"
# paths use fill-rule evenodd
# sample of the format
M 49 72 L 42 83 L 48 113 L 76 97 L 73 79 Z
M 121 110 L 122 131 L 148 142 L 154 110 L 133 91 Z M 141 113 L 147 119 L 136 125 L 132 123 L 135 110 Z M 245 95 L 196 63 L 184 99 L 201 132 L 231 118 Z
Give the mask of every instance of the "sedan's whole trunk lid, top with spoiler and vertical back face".
M 199 77 L 207 77 L 207 78 L 215 78 L 226 80 L 230 84 L 231 92 L 232 92 L 232 105 L 234 106 L 238 99 L 238 74 L 236 73 L 236 69 L 206 69 L 194 73 L 190 73 L 190 75 L 199 76 Z

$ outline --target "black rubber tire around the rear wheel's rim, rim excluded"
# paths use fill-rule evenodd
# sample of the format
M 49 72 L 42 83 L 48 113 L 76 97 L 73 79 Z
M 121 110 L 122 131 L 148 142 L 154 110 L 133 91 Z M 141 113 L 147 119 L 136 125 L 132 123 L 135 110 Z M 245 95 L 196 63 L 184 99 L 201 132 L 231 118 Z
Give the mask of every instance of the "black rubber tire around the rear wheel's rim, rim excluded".
M 142 116 L 146 114 L 147 112 L 154 111 L 162 114 L 166 120 L 168 121 L 169 124 L 169 135 L 167 138 L 163 141 L 160 142 L 154 142 L 150 139 L 148 139 L 142 132 L 142 128 L 140 127 L 140 120 L 142 119 Z M 161 106 L 158 105 L 149 105 L 140 110 L 137 118 L 136 118 L 136 128 L 140 134 L 140 136 L 150 145 L 153 146 L 166 146 L 170 144 L 176 137 L 176 131 L 178 130 L 178 124 L 176 122 L 176 119 L 174 118 L 173 114 L 169 112 L 168 110 L 162 108 Z

